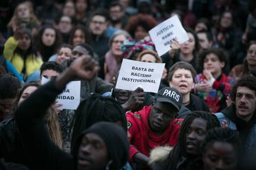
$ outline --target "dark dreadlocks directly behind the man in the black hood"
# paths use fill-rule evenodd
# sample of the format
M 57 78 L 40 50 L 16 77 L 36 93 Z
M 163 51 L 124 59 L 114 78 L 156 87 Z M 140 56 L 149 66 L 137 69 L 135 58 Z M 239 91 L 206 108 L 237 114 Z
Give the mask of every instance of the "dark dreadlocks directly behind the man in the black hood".
M 126 112 L 121 105 L 111 97 L 102 97 L 98 94 L 91 94 L 88 99 L 83 100 L 74 118 L 74 129 L 71 139 L 71 151 L 73 152 L 75 139 L 88 127 L 99 121 L 110 121 L 122 123 L 126 131 Z

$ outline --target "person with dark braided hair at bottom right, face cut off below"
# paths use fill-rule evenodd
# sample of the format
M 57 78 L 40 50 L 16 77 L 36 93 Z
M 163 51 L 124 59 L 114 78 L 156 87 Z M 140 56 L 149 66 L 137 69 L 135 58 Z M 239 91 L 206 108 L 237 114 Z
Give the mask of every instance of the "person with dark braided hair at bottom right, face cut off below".
M 238 169 L 242 144 L 236 131 L 215 127 L 207 132 L 202 144 L 203 169 Z

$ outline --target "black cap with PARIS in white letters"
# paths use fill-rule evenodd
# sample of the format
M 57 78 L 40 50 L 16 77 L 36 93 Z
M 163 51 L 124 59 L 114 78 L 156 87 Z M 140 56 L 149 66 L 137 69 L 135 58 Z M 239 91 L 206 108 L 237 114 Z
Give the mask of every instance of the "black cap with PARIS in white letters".
M 171 103 L 178 111 L 181 109 L 182 95 L 172 87 L 164 87 L 158 91 L 156 94 L 156 100 L 158 102 Z

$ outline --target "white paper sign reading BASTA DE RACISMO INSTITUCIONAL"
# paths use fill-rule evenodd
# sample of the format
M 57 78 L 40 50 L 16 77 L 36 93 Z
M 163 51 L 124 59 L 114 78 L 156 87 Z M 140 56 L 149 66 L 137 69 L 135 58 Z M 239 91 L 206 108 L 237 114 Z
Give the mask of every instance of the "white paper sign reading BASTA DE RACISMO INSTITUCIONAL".
M 145 92 L 158 92 L 165 63 L 147 63 L 122 60 L 116 89 L 134 91 L 142 87 Z

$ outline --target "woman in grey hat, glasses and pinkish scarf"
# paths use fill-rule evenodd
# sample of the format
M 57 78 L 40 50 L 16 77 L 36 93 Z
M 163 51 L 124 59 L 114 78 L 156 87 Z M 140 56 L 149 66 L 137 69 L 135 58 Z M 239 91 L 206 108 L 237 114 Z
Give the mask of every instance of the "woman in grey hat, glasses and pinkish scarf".
M 110 50 L 105 55 L 104 63 L 105 81 L 113 82 L 113 78 L 122 64 L 121 45 L 129 38 L 130 34 L 126 31 L 116 31 L 109 39 Z

